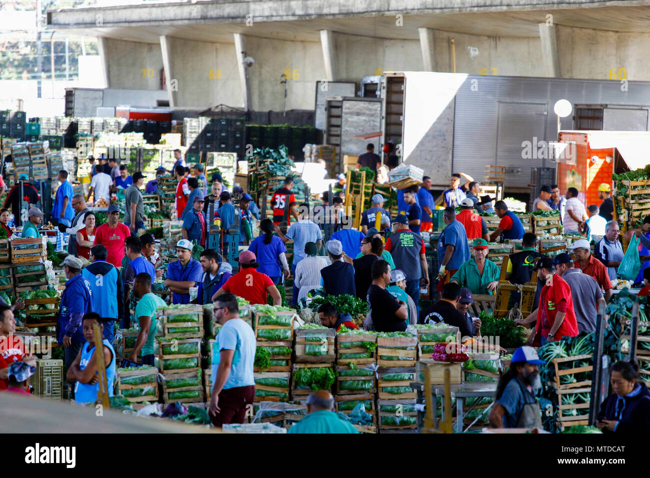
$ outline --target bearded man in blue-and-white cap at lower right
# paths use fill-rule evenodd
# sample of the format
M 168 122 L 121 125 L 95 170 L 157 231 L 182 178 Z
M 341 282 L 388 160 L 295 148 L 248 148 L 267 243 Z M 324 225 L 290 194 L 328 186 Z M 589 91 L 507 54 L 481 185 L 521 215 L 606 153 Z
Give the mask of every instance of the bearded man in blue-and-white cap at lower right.
M 492 427 L 541 429 L 541 408 L 535 393 L 541 388 L 539 365 L 544 363 L 532 347 L 515 350 L 510 369 L 497 385 L 496 400 L 488 416 Z

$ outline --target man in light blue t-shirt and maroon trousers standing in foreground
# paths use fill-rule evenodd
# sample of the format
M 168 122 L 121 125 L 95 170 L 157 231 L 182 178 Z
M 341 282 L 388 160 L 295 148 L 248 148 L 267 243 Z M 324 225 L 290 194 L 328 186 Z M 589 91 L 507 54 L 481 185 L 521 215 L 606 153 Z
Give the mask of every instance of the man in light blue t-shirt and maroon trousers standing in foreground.
M 244 423 L 246 410 L 253 403 L 255 379 L 255 334 L 239 318 L 237 296 L 216 297 L 214 319 L 220 325 L 216 347 L 212 349 L 212 394 L 208 414 L 215 427 L 224 423 Z

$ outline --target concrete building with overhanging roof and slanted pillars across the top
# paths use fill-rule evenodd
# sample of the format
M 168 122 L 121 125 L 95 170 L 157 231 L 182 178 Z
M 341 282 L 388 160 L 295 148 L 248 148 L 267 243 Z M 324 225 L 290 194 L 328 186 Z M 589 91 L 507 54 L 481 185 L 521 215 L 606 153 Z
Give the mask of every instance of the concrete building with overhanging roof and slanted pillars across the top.
M 288 70 L 286 109 L 313 109 L 317 81 L 452 72 L 454 60 L 463 73 L 608 79 L 614 69 L 650 81 L 650 0 L 147 2 L 49 11 L 47 27 L 98 37 L 110 88 L 159 89 L 164 72 L 174 107 L 281 111 Z

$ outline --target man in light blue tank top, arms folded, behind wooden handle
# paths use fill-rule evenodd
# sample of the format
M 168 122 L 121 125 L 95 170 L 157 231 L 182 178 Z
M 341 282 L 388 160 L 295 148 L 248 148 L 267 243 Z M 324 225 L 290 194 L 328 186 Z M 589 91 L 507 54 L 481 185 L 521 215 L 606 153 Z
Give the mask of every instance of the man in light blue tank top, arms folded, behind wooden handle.
M 86 342 L 75 358 L 66 379 L 75 384 L 75 403 L 95 403 L 99 390 L 97 375 L 97 358 L 95 356 L 95 335 L 93 325 L 98 324 L 103 329 L 101 318 L 96 312 L 88 312 L 83 316 L 81 326 Z M 104 364 L 106 366 L 107 388 L 109 397 L 113 395 L 115 380 L 115 351 L 107 339 L 103 339 Z

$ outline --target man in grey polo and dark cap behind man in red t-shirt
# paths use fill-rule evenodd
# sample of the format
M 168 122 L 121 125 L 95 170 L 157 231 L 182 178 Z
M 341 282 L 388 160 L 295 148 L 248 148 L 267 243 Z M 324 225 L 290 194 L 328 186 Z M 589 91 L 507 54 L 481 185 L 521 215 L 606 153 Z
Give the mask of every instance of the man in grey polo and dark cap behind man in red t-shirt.
M 605 303 L 603 292 L 593 277 L 583 274 L 573 266 L 571 257 L 566 252 L 554 259 L 555 273 L 562 277 L 571 288 L 573 311 L 578 323 L 578 332 L 590 334 L 596 330 L 596 314 L 600 302 Z

